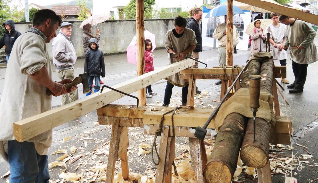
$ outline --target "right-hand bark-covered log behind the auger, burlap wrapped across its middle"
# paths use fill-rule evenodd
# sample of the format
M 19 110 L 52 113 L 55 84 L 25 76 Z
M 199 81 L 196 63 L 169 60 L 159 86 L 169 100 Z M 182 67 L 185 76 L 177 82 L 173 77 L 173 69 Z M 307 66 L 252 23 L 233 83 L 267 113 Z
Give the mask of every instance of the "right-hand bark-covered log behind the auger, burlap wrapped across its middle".
M 272 93 L 274 63 L 270 59 L 261 65 L 261 91 Z M 273 107 L 272 107 L 273 108 Z M 270 123 L 262 118 L 256 118 L 255 143 L 253 142 L 253 119 L 249 119 L 241 147 L 241 159 L 248 167 L 262 168 L 266 166 L 268 158 L 268 144 L 270 140 Z

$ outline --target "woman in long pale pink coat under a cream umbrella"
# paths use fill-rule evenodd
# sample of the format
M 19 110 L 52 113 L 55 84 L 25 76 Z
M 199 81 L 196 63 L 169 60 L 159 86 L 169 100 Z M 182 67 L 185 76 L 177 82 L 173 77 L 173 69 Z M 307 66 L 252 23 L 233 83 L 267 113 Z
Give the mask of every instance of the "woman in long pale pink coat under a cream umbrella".
M 257 20 L 254 22 L 254 28 L 252 29 L 250 35 L 251 35 L 251 56 L 259 51 L 259 52 L 263 52 L 264 50 L 264 33 L 263 33 L 263 29 L 260 28 L 260 20 Z

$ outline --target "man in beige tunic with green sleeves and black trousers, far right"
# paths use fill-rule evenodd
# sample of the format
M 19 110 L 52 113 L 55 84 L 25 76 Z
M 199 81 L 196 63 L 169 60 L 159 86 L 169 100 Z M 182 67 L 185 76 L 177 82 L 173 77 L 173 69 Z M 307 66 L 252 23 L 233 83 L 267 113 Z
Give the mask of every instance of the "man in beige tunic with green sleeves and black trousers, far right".
M 287 88 L 290 88 L 289 93 L 303 92 L 308 64 L 318 60 L 317 48 L 314 43 L 316 32 L 309 23 L 289 16 L 280 15 L 279 20 L 287 25 L 284 49 L 287 49 L 288 46 L 291 47 L 290 52 L 295 76 L 294 83 L 287 85 Z

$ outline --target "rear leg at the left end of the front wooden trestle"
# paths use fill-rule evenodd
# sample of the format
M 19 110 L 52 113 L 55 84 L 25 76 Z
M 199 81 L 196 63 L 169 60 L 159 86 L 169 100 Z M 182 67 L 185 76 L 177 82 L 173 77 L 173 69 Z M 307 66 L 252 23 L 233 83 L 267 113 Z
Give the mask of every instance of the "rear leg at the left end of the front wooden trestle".
M 121 127 L 118 156 L 121 158 L 121 171 L 122 171 L 122 177 L 124 178 L 124 180 L 129 179 L 128 156 L 127 156 L 128 147 L 129 147 L 128 127 Z M 117 159 L 119 159 L 119 157 L 117 157 Z

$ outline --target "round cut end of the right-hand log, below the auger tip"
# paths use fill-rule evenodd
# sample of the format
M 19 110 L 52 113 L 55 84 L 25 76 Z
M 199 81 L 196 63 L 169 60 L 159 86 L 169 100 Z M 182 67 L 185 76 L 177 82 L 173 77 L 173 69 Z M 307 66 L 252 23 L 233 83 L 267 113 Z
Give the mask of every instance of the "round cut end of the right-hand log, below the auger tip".
M 248 167 L 262 168 L 268 161 L 268 155 L 261 148 L 255 146 L 242 147 L 240 155 Z

